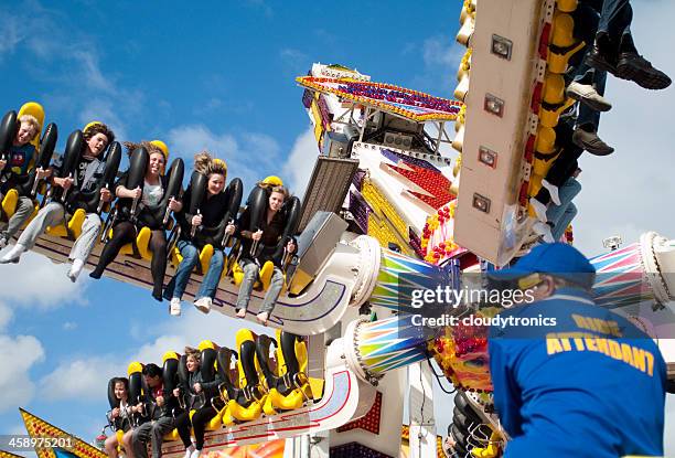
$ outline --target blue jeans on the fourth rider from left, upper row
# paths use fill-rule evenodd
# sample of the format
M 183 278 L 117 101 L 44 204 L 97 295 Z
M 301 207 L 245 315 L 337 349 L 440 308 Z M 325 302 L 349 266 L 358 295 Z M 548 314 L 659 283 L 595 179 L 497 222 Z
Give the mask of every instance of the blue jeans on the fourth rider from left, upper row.
M 190 275 L 194 266 L 200 262 L 200 251 L 191 242 L 179 241 L 176 246 L 181 252 L 181 256 L 183 256 L 183 260 L 179 265 L 175 276 L 169 281 L 167 289 L 164 289 L 164 299 L 167 300 L 171 300 L 171 298 L 174 297 L 179 299 L 183 297 L 183 292 L 185 292 L 185 287 L 190 280 Z M 205 273 L 202 285 L 200 285 L 200 290 L 196 294 L 196 299 L 203 297 L 213 299 L 215 297 L 218 281 L 221 280 L 221 274 L 223 274 L 223 251 L 214 249 L 208 270 Z

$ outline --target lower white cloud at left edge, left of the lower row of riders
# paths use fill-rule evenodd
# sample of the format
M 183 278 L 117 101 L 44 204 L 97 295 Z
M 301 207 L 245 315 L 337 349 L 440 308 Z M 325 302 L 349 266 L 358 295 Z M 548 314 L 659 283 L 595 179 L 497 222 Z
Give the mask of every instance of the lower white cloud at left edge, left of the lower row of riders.
M 33 335 L 0 335 L 0 412 L 28 403 L 35 392 L 29 371 L 44 359 L 44 349 Z

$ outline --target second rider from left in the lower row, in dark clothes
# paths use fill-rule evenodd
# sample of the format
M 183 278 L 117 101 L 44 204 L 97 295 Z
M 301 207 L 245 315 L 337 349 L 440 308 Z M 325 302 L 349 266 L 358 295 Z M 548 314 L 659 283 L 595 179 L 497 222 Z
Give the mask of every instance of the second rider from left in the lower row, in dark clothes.
M 130 449 L 136 458 L 148 458 L 148 443 L 151 443 L 152 458 L 161 458 L 164 435 L 174 428 L 176 398 L 164 388 L 162 370 L 157 364 L 146 364 L 143 377 L 150 392 L 150 403 L 147 405 L 150 420 L 133 429 Z

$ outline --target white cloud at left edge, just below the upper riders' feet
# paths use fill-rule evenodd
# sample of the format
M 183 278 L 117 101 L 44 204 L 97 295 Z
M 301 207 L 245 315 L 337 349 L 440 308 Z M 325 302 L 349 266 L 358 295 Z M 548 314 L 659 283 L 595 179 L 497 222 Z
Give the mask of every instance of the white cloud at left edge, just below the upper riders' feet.
M 0 265 L 0 300 L 43 309 L 58 307 L 63 301 L 86 303 L 86 281 L 71 283 L 66 270 L 66 265 L 29 252 L 21 256 L 19 265 Z

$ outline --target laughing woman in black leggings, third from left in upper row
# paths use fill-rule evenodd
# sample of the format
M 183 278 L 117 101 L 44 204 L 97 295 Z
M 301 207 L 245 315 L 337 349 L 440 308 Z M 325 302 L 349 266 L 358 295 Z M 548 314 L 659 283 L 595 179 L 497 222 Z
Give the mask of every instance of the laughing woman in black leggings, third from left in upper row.
M 164 175 L 164 167 L 169 150 L 164 143 L 158 140 L 151 142 L 144 141 L 140 145 L 127 142 L 125 146 L 129 149 L 129 152 L 142 146 L 150 153 L 143 184 L 136 189 L 128 189 L 128 171 L 116 183 L 115 195 L 119 198 L 119 201 L 117 220 L 113 226 L 113 237 L 110 237 L 100 253 L 98 265 L 89 274 L 89 277 L 100 278 L 106 267 L 115 260 L 121 247 L 128 243 L 133 243 L 140 228 L 147 226 L 152 231 L 149 243 L 150 251 L 152 252 L 150 270 L 154 283 L 152 297 L 161 302 L 164 273 L 167 270 L 167 234 L 164 233 L 162 221 L 157 220 L 153 210 L 159 205 L 167 189 L 168 179 Z M 135 200 L 139 200 L 140 204 L 136 215 L 131 215 Z M 182 209 L 182 203 L 171 198 L 169 200 L 169 209 L 173 212 L 179 212 Z

